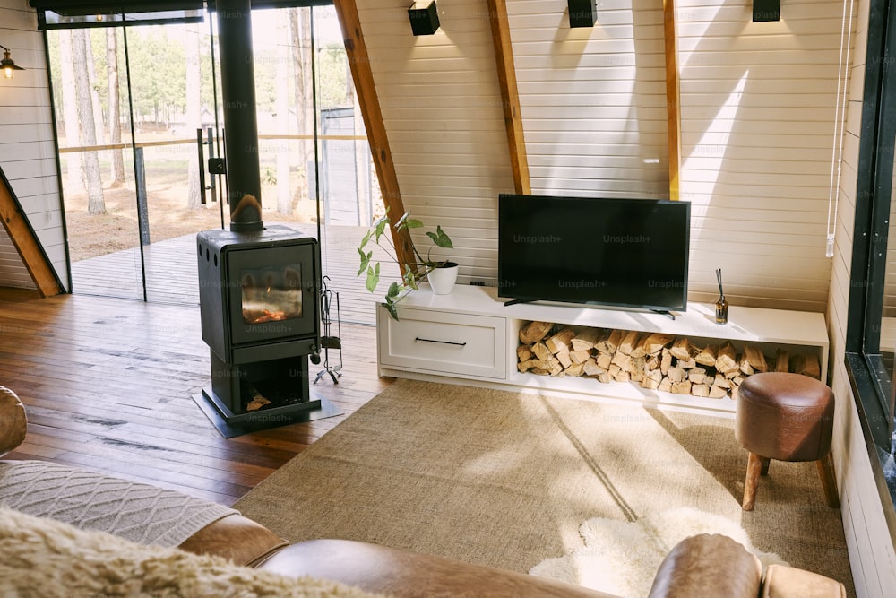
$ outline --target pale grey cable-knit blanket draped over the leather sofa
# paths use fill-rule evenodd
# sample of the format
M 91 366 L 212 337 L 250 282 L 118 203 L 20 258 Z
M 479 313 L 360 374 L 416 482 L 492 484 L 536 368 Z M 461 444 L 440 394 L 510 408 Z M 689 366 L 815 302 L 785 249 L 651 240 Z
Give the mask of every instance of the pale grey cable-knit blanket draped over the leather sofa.
M 44 461 L 0 461 L 0 507 L 169 547 L 238 512 L 174 490 Z

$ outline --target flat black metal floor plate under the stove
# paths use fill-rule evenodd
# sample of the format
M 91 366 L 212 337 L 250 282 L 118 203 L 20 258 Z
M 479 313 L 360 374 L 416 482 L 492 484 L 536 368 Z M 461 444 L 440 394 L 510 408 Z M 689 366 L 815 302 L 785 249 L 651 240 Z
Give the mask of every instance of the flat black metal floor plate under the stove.
M 217 400 L 211 388 L 203 388 L 202 394 L 194 394 L 193 401 L 211 424 L 224 438 L 234 438 L 263 429 L 279 428 L 293 423 L 323 420 L 341 415 L 343 412 L 335 404 L 324 398 L 315 398 L 307 403 L 263 409 L 257 412 L 234 414 Z

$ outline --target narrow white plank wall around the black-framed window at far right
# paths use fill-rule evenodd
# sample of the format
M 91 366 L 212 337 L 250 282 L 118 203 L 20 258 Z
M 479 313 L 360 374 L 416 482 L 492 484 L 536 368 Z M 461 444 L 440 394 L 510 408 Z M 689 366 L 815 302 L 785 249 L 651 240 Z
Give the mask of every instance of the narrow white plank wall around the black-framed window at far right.
M 846 139 L 840 179 L 840 206 L 831 267 L 826 320 L 831 335 L 831 388 L 837 397 L 832 451 L 838 472 L 840 508 L 849 546 L 856 594 L 886 598 L 896 588 L 896 551 L 888 532 L 861 423 L 843 363 L 849 305 L 849 273 L 856 211 L 857 161 L 863 105 L 868 0 L 857 0 L 849 81 Z

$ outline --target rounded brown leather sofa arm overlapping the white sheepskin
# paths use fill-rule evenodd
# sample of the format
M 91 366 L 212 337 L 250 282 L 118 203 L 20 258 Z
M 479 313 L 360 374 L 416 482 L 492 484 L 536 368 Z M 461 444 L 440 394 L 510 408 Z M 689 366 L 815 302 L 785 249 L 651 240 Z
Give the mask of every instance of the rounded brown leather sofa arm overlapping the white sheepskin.
M 649 598 L 755 598 L 761 587 L 762 564 L 754 554 L 728 536 L 701 533 L 669 550 Z

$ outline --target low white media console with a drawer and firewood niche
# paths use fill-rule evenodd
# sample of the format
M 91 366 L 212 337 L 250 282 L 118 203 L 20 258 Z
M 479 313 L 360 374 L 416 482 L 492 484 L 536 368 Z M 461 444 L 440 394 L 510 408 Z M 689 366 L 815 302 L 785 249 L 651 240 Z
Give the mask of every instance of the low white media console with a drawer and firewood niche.
M 828 368 L 828 334 L 820 313 L 780 309 L 728 309 L 728 324 L 715 323 L 711 305 L 688 305 L 675 319 L 650 311 L 517 303 L 504 305 L 491 287 L 458 285 L 449 295 L 427 288 L 401 299 L 400 320 L 377 307 L 377 360 L 381 376 L 407 377 L 506 390 L 538 390 L 579 398 L 634 402 L 644 406 L 731 414 L 729 397 L 711 399 L 643 389 L 625 382 L 601 383 L 591 377 L 550 377 L 521 373 L 516 348 L 521 325 L 538 320 L 582 328 L 661 332 L 687 337 L 694 343 L 745 343 L 767 354 L 785 349 L 814 354 L 822 381 Z

